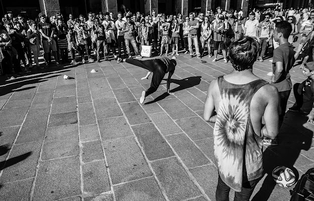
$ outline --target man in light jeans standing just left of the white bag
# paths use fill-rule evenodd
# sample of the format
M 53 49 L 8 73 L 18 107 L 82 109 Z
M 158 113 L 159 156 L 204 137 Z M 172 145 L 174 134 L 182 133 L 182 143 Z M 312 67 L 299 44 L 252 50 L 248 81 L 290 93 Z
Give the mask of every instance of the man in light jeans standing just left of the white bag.
M 131 43 L 132 47 L 134 48 L 136 58 L 140 59 L 142 58 L 142 56 L 140 56 L 140 54 L 138 53 L 138 48 L 136 46 L 136 42 L 134 38 L 134 30 L 136 29 L 135 25 L 133 22 L 131 22 L 131 16 L 126 16 L 125 19 L 126 19 L 126 22 L 123 24 L 122 33 L 124 33 L 124 40 L 125 40 L 125 46 L 128 53 L 128 57 L 132 58 L 130 48 L 129 48 L 129 43 Z

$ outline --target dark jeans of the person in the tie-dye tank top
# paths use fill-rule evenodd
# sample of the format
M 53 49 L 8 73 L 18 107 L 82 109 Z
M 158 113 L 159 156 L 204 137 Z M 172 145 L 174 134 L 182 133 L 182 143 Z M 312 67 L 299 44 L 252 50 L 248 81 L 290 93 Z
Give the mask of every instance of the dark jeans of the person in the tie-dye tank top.
M 234 193 L 234 201 L 249 201 L 253 190 L 258 183 L 258 179 L 242 183 L 241 192 Z M 216 201 L 229 201 L 230 187 L 218 175 L 218 184 L 216 190 Z

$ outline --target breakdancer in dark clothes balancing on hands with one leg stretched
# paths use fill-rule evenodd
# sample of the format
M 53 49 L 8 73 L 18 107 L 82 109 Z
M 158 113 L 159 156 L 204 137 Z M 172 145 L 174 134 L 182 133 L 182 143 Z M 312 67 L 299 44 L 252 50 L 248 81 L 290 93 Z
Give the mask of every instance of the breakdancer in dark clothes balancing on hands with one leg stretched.
M 142 91 L 142 96 L 139 99 L 139 103 L 142 104 L 146 96 L 148 96 L 149 94 L 157 90 L 165 74 L 168 72 L 169 74 L 168 74 L 168 79 L 167 79 L 167 93 L 171 94 L 170 93 L 170 79 L 171 79 L 171 76 L 174 74 L 175 68 L 177 65 L 177 61 L 175 59 L 176 57 L 172 57 L 172 59 L 169 59 L 168 57 L 161 57 L 159 59 L 149 59 L 149 60 L 140 61 L 140 60 L 131 59 L 131 58 L 127 58 L 123 60 L 121 58 L 118 58 L 117 62 L 118 63 L 120 62 L 130 63 L 130 64 L 139 66 L 141 68 L 144 68 L 152 72 L 150 87 L 147 90 Z

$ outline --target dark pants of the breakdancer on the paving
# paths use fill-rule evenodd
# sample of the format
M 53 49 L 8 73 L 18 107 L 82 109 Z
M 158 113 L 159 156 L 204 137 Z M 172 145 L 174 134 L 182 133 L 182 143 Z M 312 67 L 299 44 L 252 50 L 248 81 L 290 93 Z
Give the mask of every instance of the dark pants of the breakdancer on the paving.
M 125 59 L 125 62 L 144 68 L 152 72 L 150 87 L 146 90 L 145 96 L 148 96 L 149 94 L 155 92 L 158 89 L 167 71 L 166 64 L 160 59 L 150 59 L 150 60 L 140 61 L 137 59 L 127 58 Z

